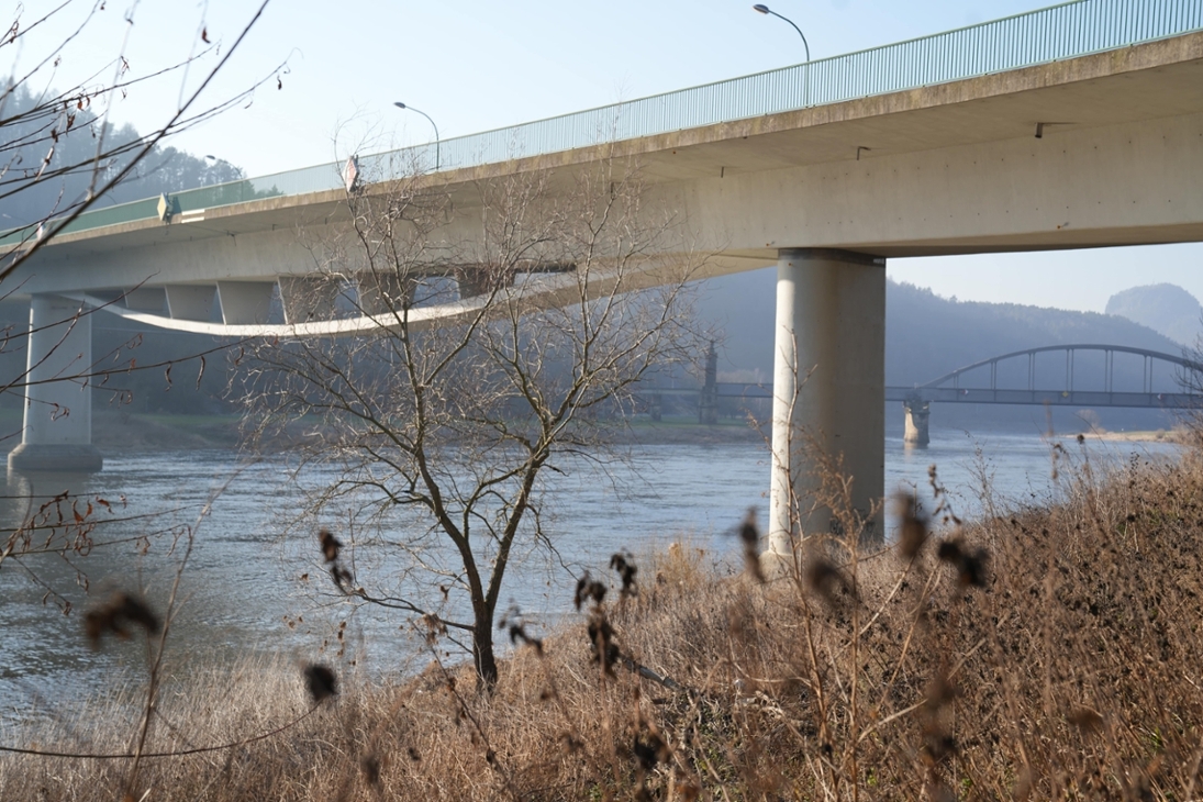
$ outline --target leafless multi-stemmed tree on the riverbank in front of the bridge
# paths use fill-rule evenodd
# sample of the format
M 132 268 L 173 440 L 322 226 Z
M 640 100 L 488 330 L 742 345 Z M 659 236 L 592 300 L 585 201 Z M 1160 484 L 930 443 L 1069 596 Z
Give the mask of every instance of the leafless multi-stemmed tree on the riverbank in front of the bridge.
M 520 546 L 553 549 L 540 476 L 598 458 L 640 380 L 704 340 L 686 287 L 700 260 L 628 168 L 354 191 L 350 225 L 313 248 L 310 308 L 369 325 L 253 352 L 259 434 L 322 424 L 307 462 L 338 479 L 310 512 L 350 510 L 348 546 L 322 536 L 339 590 L 466 635 L 484 689 L 506 569 Z M 390 548 L 387 590 L 352 575 L 356 552 Z

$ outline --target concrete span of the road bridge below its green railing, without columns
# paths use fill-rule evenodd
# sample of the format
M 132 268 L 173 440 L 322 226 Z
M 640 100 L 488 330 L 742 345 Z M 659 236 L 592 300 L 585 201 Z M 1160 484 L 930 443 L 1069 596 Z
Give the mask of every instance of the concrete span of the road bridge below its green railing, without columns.
M 648 185 L 664 188 L 665 198 L 688 201 L 669 208 L 688 208 L 681 219 L 710 236 L 694 244 L 760 263 L 772 263 L 777 248 L 796 243 L 903 256 L 1197 240 L 1203 239 L 1198 194 L 1180 190 L 1197 174 L 1192 166 L 1201 158 L 1201 76 L 1203 31 L 1196 31 L 885 95 L 444 171 L 413 184 L 450 194 L 463 210 L 479 207 L 488 182 L 550 172 L 549 185 L 571 184 L 573 176 L 600 162 L 621 173 L 630 159 Z M 1195 130 L 1181 130 L 1179 124 L 1192 119 Z M 1041 123 L 1043 136 L 1036 138 Z M 1107 136 L 1094 142 L 1092 132 Z M 1096 144 L 1100 153 L 1091 155 Z M 1006 166 L 986 170 L 991 160 Z M 1083 170 L 1088 161 L 1094 164 Z M 748 176 L 755 180 L 741 185 Z M 873 185 L 869 194 L 866 185 Z M 365 191 L 391 188 L 385 182 Z M 1092 208 L 1098 200 L 1109 214 Z M 707 206 L 716 214 L 695 218 Z M 730 209 L 736 216 L 717 213 Z M 979 226 L 979 216 L 988 225 Z M 330 190 L 208 208 L 203 224 L 140 220 L 63 234 L 14 278 L 31 292 L 89 292 L 131 286 L 131 267 L 136 280 L 156 275 L 153 280 L 165 283 L 300 274 L 320 265 L 298 232 L 308 242 L 337 242 L 349 216 L 345 194 Z M 136 255 L 132 263 L 128 255 Z

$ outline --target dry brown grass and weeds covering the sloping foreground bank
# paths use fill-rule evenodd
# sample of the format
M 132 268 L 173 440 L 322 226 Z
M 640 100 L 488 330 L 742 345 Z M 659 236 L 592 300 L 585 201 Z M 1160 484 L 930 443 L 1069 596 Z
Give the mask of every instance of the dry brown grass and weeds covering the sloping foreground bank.
M 586 602 L 593 643 L 583 622 L 527 642 L 493 697 L 437 664 L 396 687 L 344 682 L 280 736 L 146 761 L 140 789 L 214 801 L 1198 798 L 1203 465 L 1072 473 L 1054 509 L 938 531 L 914 521 L 913 558 L 810 543 L 795 576 L 759 584 L 670 548 L 639 566 L 638 595 Z M 622 655 L 609 671 L 608 647 Z M 294 670 L 241 672 L 166 694 L 150 748 L 245 738 L 307 708 Z M 24 743 L 122 751 L 136 719 L 122 709 L 96 709 L 85 735 Z M 6 756 L 0 798 L 112 800 L 125 762 Z

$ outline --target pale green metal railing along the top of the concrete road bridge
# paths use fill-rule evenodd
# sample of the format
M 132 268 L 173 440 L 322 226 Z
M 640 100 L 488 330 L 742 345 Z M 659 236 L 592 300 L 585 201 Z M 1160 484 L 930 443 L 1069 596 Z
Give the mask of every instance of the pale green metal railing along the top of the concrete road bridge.
M 1203 29 L 1203 0 L 1074 0 L 1005 19 L 799 64 L 742 78 L 445 139 L 440 170 L 455 170 L 605 142 L 699 127 L 1017 70 Z M 434 165 L 425 144 L 365 156 L 381 179 Z M 172 196 L 178 212 L 342 186 L 327 164 L 205 186 Z M 89 210 L 64 228 L 85 231 L 156 216 L 156 200 Z M 24 230 L 28 232 L 28 228 Z M 20 231 L 0 236 L 0 245 Z

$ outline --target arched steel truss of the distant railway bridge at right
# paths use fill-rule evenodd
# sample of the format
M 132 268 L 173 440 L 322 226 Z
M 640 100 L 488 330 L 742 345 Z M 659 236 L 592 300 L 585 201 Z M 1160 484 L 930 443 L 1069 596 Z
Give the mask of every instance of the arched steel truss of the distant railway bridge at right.
M 1074 387 L 1075 356 L 1079 351 L 1103 354 L 1103 388 L 1080 390 Z M 1036 386 L 1036 357 L 1039 354 L 1065 354 L 1065 381 L 1061 387 Z M 1131 354 L 1143 358 L 1142 386 L 1139 391 L 1115 387 L 1115 355 Z M 1008 360 L 1027 358 L 1027 387 L 998 386 L 998 363 Z M 1156 392 L 1154 384 L 1156 364 L 1173 366 L 1175 384 L 1180 392 Z M 990 370 L 988 387 L 962 387 L 965 374 L 983 368 Z M 1060 404 L 1074 406 L 1127 406 L 1184 409 L 1203 405 L 1203 363 L 1181 355 L 1151 351 L 1128 345 L 1101 345 L 1080 343 L 1072 345 L 1044 345 L 1012 351 L 958 368 L 929 382 L 911 388 L 889 387 L 887 398 L 903 403 L 976 403 L 976 404 Z

